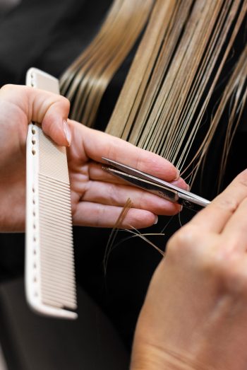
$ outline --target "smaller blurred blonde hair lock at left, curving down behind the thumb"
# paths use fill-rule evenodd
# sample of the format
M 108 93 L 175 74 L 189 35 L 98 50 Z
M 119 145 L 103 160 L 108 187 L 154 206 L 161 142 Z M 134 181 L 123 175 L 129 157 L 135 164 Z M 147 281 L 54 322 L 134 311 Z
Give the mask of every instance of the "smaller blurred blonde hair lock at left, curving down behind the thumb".
M 60 78 L 61 94 L 71 100 L 71 118 L 95 122 L 100 101 L 143 30 L 153 0 L 115 0 L 99 33 Z

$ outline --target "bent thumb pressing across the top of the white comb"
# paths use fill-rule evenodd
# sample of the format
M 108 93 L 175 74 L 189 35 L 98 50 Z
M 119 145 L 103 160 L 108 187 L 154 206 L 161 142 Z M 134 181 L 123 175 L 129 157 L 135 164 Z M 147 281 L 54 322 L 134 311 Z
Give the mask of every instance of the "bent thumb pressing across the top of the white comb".
M 69 101 L 57 94 L 28 86 L 6 85 L 1 88 L 4 99 L 16 105 L 31 121 L 42 124 L 45 134 L 56 144 L 68 146 L 71 141 L 68 119 Z

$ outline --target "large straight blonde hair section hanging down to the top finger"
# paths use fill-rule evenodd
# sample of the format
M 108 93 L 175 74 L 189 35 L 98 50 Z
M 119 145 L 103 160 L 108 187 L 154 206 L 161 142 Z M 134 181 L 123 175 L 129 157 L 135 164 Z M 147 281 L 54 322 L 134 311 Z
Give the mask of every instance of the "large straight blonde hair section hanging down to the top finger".
M 245 16 L 246 1 L 157 0 L 107 132 L 164 156 L 180 170 L 190 168 L 194 178 L 227 103 L 234 100 L 223 171 L 229 132 L 236 131 L 246 102 L 246 48 L 219 101 L 212 99 Z M 214 109 L 208 112 L 210 105 Z M 198 136 L 202 127 L 204 134 Z M 186 163 L 188 155 L 192 160 Z

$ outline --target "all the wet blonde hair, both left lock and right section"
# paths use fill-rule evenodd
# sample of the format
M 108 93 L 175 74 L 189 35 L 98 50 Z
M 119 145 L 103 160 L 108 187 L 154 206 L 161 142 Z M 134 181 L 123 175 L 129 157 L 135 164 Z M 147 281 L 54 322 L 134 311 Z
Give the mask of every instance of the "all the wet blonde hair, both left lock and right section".
M 246 103 L 246 47 L 229 71 L 246 7 L 246 0 L 115 0 L 61 76 L 71 117 L 93 125 L 109 81 L 146 25 L 107 132 L 164 156 L 193 180 L 217 127 L 227 126 L 222 177 Z

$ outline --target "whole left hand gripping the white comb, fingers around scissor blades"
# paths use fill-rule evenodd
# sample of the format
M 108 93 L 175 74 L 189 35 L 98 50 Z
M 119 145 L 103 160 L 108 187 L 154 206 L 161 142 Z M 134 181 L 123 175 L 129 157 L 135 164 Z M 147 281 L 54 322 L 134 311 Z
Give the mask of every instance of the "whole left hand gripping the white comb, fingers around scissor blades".
M 164 158 L 68 120 L 66 98 L 26 86 L 7 85 L 0 90 L 0 229 L 25 227 L 25 140 L 28 122 L 42 129 L 56 144 L 68 146 L 73 223 L 114 226 L 126 200 L 133 208 L 121 225 L 152 225 L 157 214 L 176 214 L 180 206 L 152 195 L 102 170 L 102 156 L 134 166 L 186 189 L 176 168 Z M 65 122 L 64 122 L 65 121 Z M 178 180 L 175 180 L 179 178 Z

